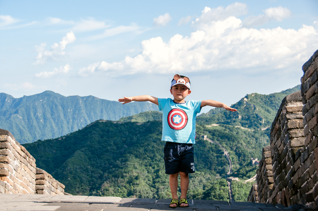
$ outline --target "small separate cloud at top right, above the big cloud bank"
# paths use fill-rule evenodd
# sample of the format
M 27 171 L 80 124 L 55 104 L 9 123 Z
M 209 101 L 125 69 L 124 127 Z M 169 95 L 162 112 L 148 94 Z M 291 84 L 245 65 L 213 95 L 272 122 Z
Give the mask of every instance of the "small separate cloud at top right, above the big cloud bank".
M 283 21 L 284 18 L 290 17 L 292 14 L 290 10 L 282 6 L 271 7 L 266 10 L 263 10 L 263 12 L 265 14 L 259 15 L 257 17 L 247 17 L 242 23 L 243 27 L 253 27 L 256 25 L 262 25 L 273 20 Z

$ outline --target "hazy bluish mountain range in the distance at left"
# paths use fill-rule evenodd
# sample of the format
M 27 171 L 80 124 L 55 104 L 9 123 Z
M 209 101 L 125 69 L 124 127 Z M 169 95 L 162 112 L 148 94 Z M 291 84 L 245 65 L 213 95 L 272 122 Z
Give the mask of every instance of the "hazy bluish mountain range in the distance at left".
M 93 96 L 65 97 L 45 91 L 14 98 L 0 93 L 0 128 L 9 130 L 20 143 L 56 138 L 97 119 L 118 120 L 145 111 L 158 111 L 148 102 L 125 105 Z

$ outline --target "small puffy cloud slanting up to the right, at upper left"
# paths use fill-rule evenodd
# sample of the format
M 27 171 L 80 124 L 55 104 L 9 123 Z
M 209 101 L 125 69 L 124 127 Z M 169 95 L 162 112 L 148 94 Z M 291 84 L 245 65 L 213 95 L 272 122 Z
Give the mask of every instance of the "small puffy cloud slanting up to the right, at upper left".
M 54 43 L 51 46 L 51 50 L 45 51 L 46 43 L 41 43 L 40 45 L 36 45 L 35 49 L 38 51 L 38 56 L 36 57 L 37 61 L 34 63 L 35 65 L 43 64 L 47 59 L 57 59 L 57 57 L 61 55 L 65 55 L 65 47 L 67 44 L 73 43 L 76 40 L 76 37 L 73 31 L 68 32 L 65 37 L 62 38 L 62 41 L 59 43 Z

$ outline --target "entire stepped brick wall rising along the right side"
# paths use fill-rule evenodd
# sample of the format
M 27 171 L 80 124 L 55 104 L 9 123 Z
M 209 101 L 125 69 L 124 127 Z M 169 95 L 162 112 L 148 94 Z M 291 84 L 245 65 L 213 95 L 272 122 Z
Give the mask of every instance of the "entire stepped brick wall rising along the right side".
M 318 202 L 318 50 L 303 65 L 301 91 L 287 95 L 280 105 L 264 147 L 249 202 L 302 204 Z M 317 162 L 316 162 L 317 161 Z

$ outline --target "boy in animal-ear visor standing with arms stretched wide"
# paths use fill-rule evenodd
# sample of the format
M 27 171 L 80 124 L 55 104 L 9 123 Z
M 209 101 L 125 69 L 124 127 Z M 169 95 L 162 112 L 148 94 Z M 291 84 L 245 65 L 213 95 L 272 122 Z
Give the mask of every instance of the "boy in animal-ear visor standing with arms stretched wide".
M 170 208 L 189 207 L 187 192 L 189 187 L 189 173 L 194 173 L 194 151 L 196 116 L 201 108 L 210 105 L 223 107 L 228 111 L 237 111 L 224 103 L 214 100 L 185 101 L 190 95 L 190 79 L 176 74 L 170 86 L 172 99 L 158 99 L 149 95 L 124 97 L 119 102 L 150 101 L 159 106 L 162 114 L 162 140 L 166 141 L 164 147 L 164 164 L 166 174 L 169 174 L 169 185 L 172 194 Z M 181 196 L 177 196 L 178 174 L 180 174 Z

